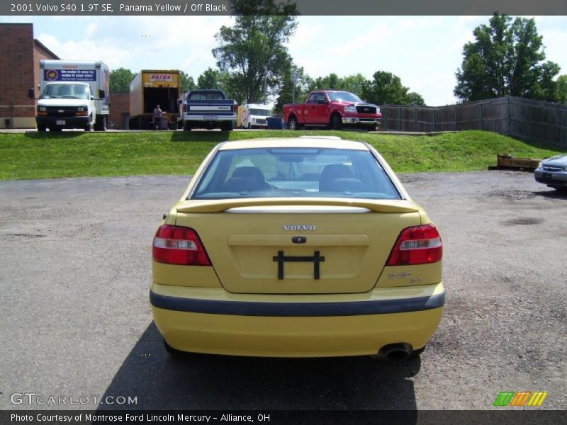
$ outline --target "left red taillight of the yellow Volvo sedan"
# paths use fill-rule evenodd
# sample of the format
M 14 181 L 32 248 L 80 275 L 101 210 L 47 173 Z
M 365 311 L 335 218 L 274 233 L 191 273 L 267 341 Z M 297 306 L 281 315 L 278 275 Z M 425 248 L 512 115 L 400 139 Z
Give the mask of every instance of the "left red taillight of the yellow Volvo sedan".
M 158 263 L 210 266 L 201 239 L 197 232 L 189 227 L 159 227 L 154 237 L 152 256 Z

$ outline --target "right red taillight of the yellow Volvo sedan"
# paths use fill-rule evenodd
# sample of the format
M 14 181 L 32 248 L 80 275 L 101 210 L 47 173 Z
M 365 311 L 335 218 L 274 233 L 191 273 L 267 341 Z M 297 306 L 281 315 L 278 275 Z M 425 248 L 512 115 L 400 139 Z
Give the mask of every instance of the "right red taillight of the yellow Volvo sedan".
M 408 227 L 400 232 L 386 266 L 437 263 L 442 258 L 443 244 L 437 227 Z

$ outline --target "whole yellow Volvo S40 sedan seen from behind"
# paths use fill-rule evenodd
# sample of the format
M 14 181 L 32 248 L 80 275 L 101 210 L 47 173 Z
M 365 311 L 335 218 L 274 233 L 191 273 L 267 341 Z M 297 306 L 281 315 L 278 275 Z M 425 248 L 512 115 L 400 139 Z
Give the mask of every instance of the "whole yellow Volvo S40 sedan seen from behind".
M 405 358 L 443 312 L 437 228 L 363 142 L 221 143 L 152 251 L 174 354 Z

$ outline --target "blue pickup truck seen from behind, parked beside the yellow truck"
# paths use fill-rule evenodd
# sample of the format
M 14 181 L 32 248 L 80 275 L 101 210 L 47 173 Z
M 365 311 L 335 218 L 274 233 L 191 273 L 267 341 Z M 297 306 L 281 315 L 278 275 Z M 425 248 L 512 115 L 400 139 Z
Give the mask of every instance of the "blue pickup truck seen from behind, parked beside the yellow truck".
M 235 128 L 238 105 L 236 101 L 226 98 L 222 90 L 191 90 L 179 104 L 179 127 L 183 130 L 220 128 L 230 131 Z

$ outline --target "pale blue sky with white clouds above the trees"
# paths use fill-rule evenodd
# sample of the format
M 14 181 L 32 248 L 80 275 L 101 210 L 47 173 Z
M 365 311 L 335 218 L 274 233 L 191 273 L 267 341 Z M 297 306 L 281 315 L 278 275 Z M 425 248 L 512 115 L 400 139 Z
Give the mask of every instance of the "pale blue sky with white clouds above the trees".
M 532 16 L 529 16 L 532 18 Z M 567 74 L 567 16 L 533 16 L 546 60 Z M 473 30 L 489 16 L 300 16 L 288 50 L 310 77 L 392 72 L 430 106 L 455 103 L 455 72 Z M 33 23 L 34 37 L 67 60 L 112 69 L 181 69 L 194 79 L 215 68 L 211 50 L 230 16 L 0 16 Z

